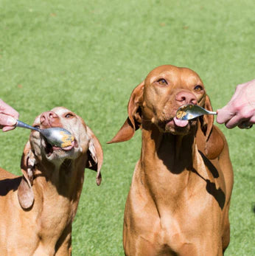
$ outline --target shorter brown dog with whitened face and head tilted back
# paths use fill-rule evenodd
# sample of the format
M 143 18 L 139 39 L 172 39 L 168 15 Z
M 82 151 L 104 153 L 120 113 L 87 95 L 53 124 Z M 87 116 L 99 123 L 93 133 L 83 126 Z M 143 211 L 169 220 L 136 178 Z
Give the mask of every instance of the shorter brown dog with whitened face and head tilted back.
M 23 176 L 0 169 L 0 255 L 71 255 L 84 169 L 97 170 L 99 185 L 102 148 L 82 118 L 63 107 L 41 114 L 34 126 L 65 128 L 74 142 L 52 147 L 32 131 L 21 160 Z

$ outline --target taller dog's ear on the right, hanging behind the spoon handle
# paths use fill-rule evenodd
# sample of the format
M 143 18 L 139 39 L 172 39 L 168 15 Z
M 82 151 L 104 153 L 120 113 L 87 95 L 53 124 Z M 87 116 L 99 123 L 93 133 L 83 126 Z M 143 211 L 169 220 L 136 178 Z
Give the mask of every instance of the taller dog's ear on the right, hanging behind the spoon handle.
M 206 95 L 206 100 L 203 107 L 209 111 L 212 111 L 212 105 L 208 95 Z M 206 157 L 209 159 L 215 159 L 217 156 L 219 156 L 224 147 L 223 137 L 214 127 L 213 123 L 213 115 L 203 115 L 200 117 L 200 128 L 201 131 L 203 131 L 206 143 L 204 152 Z

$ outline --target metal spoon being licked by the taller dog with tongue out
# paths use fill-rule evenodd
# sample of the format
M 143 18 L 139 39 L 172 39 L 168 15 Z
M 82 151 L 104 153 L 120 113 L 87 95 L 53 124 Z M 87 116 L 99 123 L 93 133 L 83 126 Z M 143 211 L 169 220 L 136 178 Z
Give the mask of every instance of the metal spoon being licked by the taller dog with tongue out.
M 176 111 L 176 117 L 180 120 L 192 120 L 196 117 L 203 116 L 203 114 L 217 114 L 217 112 L 208 111 L 199 105 L 193 104 L 182 105 Z

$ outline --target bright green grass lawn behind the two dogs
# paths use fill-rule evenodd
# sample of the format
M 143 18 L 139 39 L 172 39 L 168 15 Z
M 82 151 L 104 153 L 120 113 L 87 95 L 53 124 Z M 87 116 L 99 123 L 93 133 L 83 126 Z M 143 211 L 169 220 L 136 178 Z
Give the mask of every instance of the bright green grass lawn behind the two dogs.
M 64 105 L 82 116 L 105 153 L 102 185 L 85 170 L 73 255 L 123 255 L 122 218 L 141 134 L 106 145 L 127 116 L 132 89 L 151 69 L 194 69 L 214 109 L 254 79 L 254 1 L 0 0 L 0 97 L 31 124 Z M 231 244 L 255 252 L 254 130 L 227 130 L 234 166 Z M 0 133 L 0 166 L 21 173 L 29 131 Z

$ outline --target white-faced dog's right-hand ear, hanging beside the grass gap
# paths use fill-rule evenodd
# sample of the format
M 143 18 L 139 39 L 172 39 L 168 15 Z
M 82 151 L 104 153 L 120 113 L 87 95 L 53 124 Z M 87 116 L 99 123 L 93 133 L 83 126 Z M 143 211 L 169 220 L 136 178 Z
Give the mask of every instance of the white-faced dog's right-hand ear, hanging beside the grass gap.
M 97 137 L 94 135 L 93 131 L 91 131 L 91 128 L 89 128 L 88 126 L 86 128 L 89 136 L 88 162 L 86 164 L 86 167 L 91 170 L 97 171 L 97 185 L 99 186 L 102 181 L 102 176 L 100 173 L 103 160 L 102 146 Z

